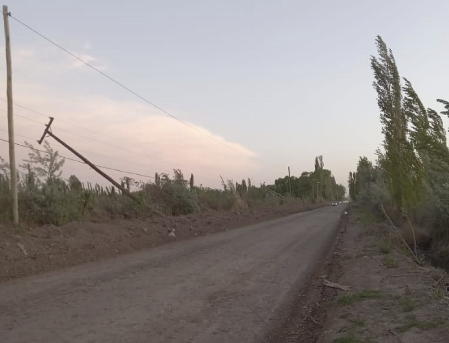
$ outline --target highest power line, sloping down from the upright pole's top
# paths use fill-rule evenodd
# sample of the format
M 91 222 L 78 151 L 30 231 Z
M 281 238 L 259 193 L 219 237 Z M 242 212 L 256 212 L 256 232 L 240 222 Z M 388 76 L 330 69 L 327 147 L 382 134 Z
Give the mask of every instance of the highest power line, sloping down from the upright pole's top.
M 154 104 L 153 102 L 151 102 L 150 100 L 146 99 L 144 96 L 141 96 L 140 94 L 138 94 L 136 91 L 133 91 L 131 88 L 125 86 L 123 83 L 115 80 L 114 78 L 112 78 L 111 76 L 109 76 L 108 74 L 102 72 L 100 69 L 94 67 L 93 65 L 91 65 L 90 63 L 84 61 L 83 59 L 79 58 L 78 56 L 76 56 L 74 53 L 70 52 L 69 50 L 67 50 L 66 48 L 62 47 L 61 45 L 59 45 L 58 43 L 54 42 L 53 40 L 49 39 L 47 36 L 41 34 L 39 31 L 33 29 L 31 26 L 26 25 L 24 22 L 20 21 L 18 18 L 13 17 L 13 15 L 11 15 L 11 13 L 7 13 L 9 15 L 9 17 L 13 18 L 16 22 L 18 22 L 19 24 L 21 24 L 22 26 L 25 26 L 28 30 L 31 30 L 32 32 L 34 32 L 36 35 L 39 35 L 40 37 L 42 37 L 43 39 L 45 39 L 47 42 L 53 44 L 54 46 L 56 46 L 57 48 L 61 49 L 62 51 L 66 52 L 67 54 L 69 54 L 70 56 L 72 56 L 73 58 L 75 58 L 76 60 L 80 61 L 81 63 L 83 63 L 84 65 L 88 66 L 89 68 L 95 70 L 97 73 L 101 74 L 102 76 L 104 76 L 105 78 L 109 79 L 110 81 L 114 82 L 116 85 L 118 85 L 119 87 L 122 87 L 124 90 L 132 93 L 134 96 L 138 97 L 139 99 L 145 101 L 147 104 L 150 104 L 151 106 L 153 106 L 154 108 L 158 109 L 159 111 L 161 111 L 162 113 L 166 114 L 167 116 L 171 117 L 172 119 L 180 122 L 181 124 L 188 126 L 190 129 L 195 130 L 197 132 L 199 132 L 202 135 L 205 135 L 206 137 L 208 137 L 209 139 L 212 139 L 214 141 L 216 141 L 217 143 L 220 143 L 222 145 L 224 145 L 225 147 L 232 149 L 240 154 L 243 154 L 245 156 L 247 156 L 246 153 L 233 148 L 232 146 L 216 139 L 215 137 L 213 137 L 212 135 L 208 135 L 205 132 L 198 130 L 195 126 L 190 125 L 189 123 L 183 121 L 182 119 L 176 117 L 175 115 L 173 115 L 172 113 L 166 111 L 165 109 L 163 109 L 162 107 L 159 107 L 158 105 Z

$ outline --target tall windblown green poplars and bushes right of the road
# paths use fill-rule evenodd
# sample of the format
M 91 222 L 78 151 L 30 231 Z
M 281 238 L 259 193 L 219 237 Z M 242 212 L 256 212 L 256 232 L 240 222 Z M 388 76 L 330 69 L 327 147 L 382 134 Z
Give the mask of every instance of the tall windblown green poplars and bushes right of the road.
M 357 170 L 349 174 L 349 195 L 407 231 L 410 245 L 431 245 L 449 258 L 449 149 L 442 121 L 449 116 L 449 102 L 437 99 L 439 112 L 426 107 L 412 83 L 401 78 L 380 36 L 376 45 L 371 68 L 384 140 L 374 163 L 360 157 Z

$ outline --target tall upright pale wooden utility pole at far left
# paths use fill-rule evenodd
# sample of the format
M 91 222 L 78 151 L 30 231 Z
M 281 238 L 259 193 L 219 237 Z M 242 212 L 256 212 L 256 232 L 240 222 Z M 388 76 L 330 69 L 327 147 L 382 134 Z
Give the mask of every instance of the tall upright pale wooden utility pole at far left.
M 19 223 L 16 152 L 14 141 L 14 117 L 13 117 L 13 67 L 11 62 L 11 39 L 9 36 L 9 12 L 8 6 L 3 6 L 4 37 L 6 45 L 6 98 L 8 100 L 8 140 L 9 140 L 9 167 L 11 168 L 11 192 L 13 200 L 14 224 Z

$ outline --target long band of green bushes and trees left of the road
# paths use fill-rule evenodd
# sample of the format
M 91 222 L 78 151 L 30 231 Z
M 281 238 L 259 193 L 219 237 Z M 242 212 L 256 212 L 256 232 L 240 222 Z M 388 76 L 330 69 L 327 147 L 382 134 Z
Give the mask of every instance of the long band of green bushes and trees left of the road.
M 114 186 L 104 187 L 90 182 L 83 183 L 75 175 L 62 178 L 64 158 L 47 143 L 44 151 L 36 150 L 31 144 L 29 158 L 22 161 L 18 172 L 19 213 L 22 222 L 34 225 L 63 225 L 70 221 L 107 221 L 114 218 L 148 217 L 153 213 L 180 216 L 207 210 L 229 211 L 247 208 L 273 208 L 284 204 L 310 204 L 316 200 L 330 200 L 328 185 L 335 179 L 330 170 L 323 169 L 322 156 L 317 157 L 315 171 L 303 173 L 310 176 L 291 177 L 292 191 L 260 184 L 255 186 L 251 179 L 241 182 L 221 179 L 222 189 L 196 185 L 194 175 L 186 178 L 180 169 L 173 174 L 154 175 L 153 182 L 142 182 L 124 176 L 122 186 L 139 200 L 139 203 L 122 194 Z M 320 194 L 311 189 L 316 180 L 322 180 L 318 187 Z M 300 180 L 301 186 L 297 180 Z M 308 183 L 308 186 L 306 185 Z M 337 188 L 334 188 L 337 189 Z M 339 197 L 345 189 L 339 187 Z M 0 222 L 11 221 L 9 165 L 0 156 Z

